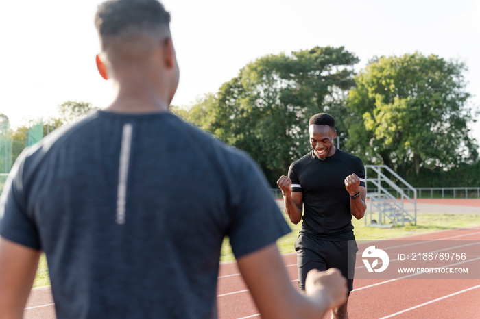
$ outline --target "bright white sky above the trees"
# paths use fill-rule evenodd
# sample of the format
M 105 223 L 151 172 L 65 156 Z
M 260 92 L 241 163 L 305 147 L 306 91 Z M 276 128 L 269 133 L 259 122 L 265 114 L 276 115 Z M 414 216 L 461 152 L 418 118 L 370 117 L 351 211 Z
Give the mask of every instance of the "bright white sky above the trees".
M 103 107 L 110 81 L 97 74 L 93 16 L 99 0 L 3 1 L 0 113 L 12 126 L 56 114 L 64 101 Z M 180 64 L 173 105 L 216 92 L 263 55 L 344 46 L 363 68 L 374 55 L 420 51 L 465 62 L 480 105 L 480 0 L 164 0 Z M 472 125 L 480 142 L 479 122 Z

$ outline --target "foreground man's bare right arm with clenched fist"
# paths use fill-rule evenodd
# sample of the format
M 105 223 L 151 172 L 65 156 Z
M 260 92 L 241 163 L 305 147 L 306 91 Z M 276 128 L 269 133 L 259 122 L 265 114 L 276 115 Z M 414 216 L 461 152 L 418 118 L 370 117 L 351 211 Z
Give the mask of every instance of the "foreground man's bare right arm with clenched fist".
M 275 243 L 237 259 L 262 318 L 323 318 L 328 309 L 346 301 L 346 279 L 338 269 L 311 270 L 307 275 L 307 295 L 290 282 Z

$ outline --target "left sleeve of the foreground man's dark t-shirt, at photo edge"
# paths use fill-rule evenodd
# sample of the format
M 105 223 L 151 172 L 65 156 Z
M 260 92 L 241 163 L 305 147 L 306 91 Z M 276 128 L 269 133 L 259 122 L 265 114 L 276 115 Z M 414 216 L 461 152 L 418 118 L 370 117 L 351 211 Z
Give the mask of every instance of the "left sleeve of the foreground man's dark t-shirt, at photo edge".
M 23 194 L 23 163 L 21 159 L 16 162 L 0 196 L 0 235 L 17 244 L 39 250 L 38 231 L 27 214 Z

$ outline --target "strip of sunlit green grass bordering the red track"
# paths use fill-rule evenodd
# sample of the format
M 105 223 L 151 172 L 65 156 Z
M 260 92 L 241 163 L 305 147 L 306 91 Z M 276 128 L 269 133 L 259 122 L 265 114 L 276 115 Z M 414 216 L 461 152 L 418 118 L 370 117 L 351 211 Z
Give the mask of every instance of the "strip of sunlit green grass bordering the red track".
M 285 216 L 286 218 L 286 216 Z M 300 231 L 301 222 L 298 225 L 293 225 L 287 220 L 291 228 L 291 233 L 283 236 L 277 241 L 278 249 L 280 253 L 293 253 L 293 244 L 298 237 Z M 440 231 L 443 229 L 463 228 L 480 225 L 480 214 L 418 214 L 417 225 L 405 224 L 405 227 L 392 227 L 392 228 L 376 228 L 365 226 L 365 220 L 352 219 L 353 226 L 355 227 L 355 238 L 357 240 L 381 240 L 388 238 L 396 238 L 407 235 L 413 235 L 418 233 L 428 233 L 431 231 Z M 224 244 L 221 246 L 220 261 L 232 261 L 235 257 L 228 244 L 228 238 L 224 239 Z M 40 263 L 38 264 L 38 272 L 34 281 L 34 287 L 43 287 L 50 285 L 49 272 L 47 269 L 47 261 L 45 255 L 40 257 Z

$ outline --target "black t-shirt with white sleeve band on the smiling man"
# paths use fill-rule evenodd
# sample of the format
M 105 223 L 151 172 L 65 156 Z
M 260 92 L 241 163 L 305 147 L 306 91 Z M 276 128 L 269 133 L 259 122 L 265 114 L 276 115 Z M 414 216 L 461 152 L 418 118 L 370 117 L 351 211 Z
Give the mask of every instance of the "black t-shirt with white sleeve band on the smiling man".
M 344 183 L 352 173 L 364 179 L 363 162 L 340 149 L 324 160 L 311 151 L 291 164 L 292 192 L 303 194 L 305 213 L 300 233 L 325 240 L 355 240 L 350 195 Z M 364 181 L 360 186 L 365 187 Z

